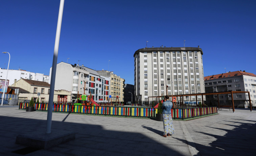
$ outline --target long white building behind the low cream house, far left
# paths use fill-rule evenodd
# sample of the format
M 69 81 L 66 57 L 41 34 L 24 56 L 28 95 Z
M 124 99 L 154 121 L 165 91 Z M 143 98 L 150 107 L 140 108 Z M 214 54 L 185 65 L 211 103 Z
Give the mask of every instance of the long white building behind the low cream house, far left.
M 6 78 L 7 74 L 7 69 L 2 69 L 0 68 L 0 79 Z M 42 82 L 47 82 L 49 83 L 49 76 L 44 75 L 41 73 L 34 73 L 34 72 L 29 72 L 26 70 L 13 70 L 9 69 L 8 70 L 8 75 L 7 75 L 7 80 L 9 80 L 9 85 L 14 84 L 14 81 L 18 81 L 20 79 L 27 79 L 27 80 L 36 80 L 36 81 L 42 81 Z

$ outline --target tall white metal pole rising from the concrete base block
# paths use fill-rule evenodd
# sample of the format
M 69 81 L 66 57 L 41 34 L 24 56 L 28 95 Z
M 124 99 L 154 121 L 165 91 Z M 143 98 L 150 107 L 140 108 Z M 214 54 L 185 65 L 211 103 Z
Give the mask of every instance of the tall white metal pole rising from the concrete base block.
M 59 52 L 63 7 L 64 7 L 64 0 L 61 0 L 60 9 L 59 9 L 58 23 L 57 23 L 57 30 L 56 30 L 56 37 L 55 37 L 54 52 L 53 52 L 52 71 L 51 71 L 51 85 L 50 85 L 50 95 L 49 95 L 47 123 L 46 123 L 46 134 L 51 133 L 52 105 L 53 105 L 53 96 L 54 96 L 57 58 L 58 58 L 58 52 Z

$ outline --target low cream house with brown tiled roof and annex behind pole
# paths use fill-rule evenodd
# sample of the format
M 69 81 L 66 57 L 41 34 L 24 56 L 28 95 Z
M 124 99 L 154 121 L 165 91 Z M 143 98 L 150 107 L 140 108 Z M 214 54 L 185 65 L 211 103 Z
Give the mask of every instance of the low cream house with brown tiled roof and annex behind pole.
M 39 102 L 49 101 L 50 84 L 47 82 L 20 79 L 8 88 L 12 90 L 19 89 L 18 99 L 27 101 L 31 100 L 32 97 L 34 102 L 37 101 L 37 98 L 39 98 Z M 66 90 L 54 90 L 53 101 L 61 103 L 69 102 L 70 92 Z

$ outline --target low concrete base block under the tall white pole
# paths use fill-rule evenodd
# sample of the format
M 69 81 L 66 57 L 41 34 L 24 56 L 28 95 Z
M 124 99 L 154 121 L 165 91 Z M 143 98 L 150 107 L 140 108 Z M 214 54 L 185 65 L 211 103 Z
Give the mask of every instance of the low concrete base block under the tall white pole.
M 66 130 L 51 130 L 50 134 L 45 132 L 32 132 L 20 134 L 16 137 L 16 144 L 26 145 L 39 149 L 48 149 L 75 139 L 75 133 Z

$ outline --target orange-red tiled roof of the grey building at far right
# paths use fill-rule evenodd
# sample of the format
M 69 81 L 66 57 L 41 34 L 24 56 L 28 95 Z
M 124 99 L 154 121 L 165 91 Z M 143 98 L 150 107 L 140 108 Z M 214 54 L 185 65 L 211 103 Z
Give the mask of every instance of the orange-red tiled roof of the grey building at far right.
M 255 74 L 245 72 L 245 70 L 243 70 L 243 71 L 232 71 L 232 72 L 227 72 L 227 73 L 222 73 L 222 74 L 205 76 L 204 80 L 207 81 L 207 80 L 213 80 L 213 79 L 221 79 L 221 78 L 224 78 L 224 77 L 232 77 L 232 76 L 238 76 L 238 75 L 247 75 L 247 76 L 256 77 Z

